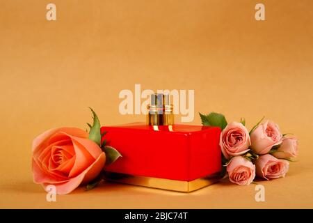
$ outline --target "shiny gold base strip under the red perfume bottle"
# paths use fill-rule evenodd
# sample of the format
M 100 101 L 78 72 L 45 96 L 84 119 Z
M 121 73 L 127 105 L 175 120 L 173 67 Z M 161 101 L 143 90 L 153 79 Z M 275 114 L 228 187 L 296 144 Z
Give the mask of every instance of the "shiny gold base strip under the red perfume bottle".
M 220 179 L 219 175 L 220 175 L 219 173 L 216 173 L 191 181 L 183 181 L 183 180 L 170 180 L 164 178 L 154 178 L 147 176 L 131 176 L 128 174 L 106 172 L 105 179 L 112 182 L 139 185 L 143 187 L 154 187 L 163 190 L 174 190 L 177 192 L 193 192 L 202 187 L 206 187 L 208 185 L 216 183 Z

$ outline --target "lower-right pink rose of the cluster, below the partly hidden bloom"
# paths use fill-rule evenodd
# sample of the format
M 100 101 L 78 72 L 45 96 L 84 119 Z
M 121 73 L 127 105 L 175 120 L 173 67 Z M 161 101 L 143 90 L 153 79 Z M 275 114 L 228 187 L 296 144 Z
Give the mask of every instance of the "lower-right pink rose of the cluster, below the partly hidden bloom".
M 261 155 L 255 161 L 257 167 L 257 176 L 262 178 L 275 179 L 284 177 L 289 169 L 289 162 L 286 160 L 278 160 L 273 155 Z

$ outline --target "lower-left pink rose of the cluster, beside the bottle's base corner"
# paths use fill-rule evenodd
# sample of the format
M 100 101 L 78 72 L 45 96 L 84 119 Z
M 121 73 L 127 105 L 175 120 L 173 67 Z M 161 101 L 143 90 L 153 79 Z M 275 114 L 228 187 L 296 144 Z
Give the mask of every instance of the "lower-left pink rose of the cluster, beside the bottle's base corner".
M 255 178 L 255 165 L 242 156 L 235 156 L 227 165 L 230 181 L 238 185 L 249 185 Z

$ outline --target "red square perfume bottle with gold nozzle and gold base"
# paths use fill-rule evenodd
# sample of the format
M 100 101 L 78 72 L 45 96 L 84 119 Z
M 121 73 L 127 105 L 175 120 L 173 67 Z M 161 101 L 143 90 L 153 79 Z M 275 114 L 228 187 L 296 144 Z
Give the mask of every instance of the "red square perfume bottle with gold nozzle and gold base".
M 122 154 L 105 168 L 106 180 L 179 192 L 215 183 L 220 128 L 174 124 L 168 94 L 152 94 L 147 109 L 146 123 L 102 127 L 102 141 Z

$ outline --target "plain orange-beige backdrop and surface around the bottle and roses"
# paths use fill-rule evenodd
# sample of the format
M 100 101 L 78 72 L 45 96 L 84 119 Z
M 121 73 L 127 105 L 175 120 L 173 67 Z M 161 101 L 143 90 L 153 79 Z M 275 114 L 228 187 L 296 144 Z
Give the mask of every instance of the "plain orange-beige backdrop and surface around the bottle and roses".
M 47 3 L 57 21 L 45 20 Z M 266 21 L 254 19 L 255 4 Z M 0 0 L 1 208 L 313 208 L 313 1 Z M 287 178 L 191 194 L 107 183 L 57 202 L 31 175 L 31 142 L 54 127 L 105 125 L 122 89 L 194 89 L 195 111 L 266 116 L 300 139 Z M 200 124 L 195 114 L 193 124 Z

